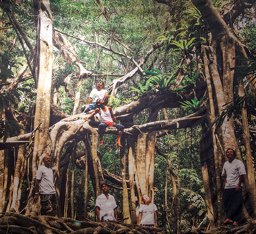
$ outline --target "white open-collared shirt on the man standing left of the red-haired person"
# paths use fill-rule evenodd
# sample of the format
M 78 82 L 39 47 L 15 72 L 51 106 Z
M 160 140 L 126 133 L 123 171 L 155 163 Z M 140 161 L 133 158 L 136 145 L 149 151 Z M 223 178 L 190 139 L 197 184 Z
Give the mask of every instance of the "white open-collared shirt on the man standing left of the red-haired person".
M 105 194 L 100 194 L 96 199 L 96 207 L 100 208 L 100 221 L 116 221 L 114 209 L 117 207 L 115 198 L 108 194 L 108 199 Z

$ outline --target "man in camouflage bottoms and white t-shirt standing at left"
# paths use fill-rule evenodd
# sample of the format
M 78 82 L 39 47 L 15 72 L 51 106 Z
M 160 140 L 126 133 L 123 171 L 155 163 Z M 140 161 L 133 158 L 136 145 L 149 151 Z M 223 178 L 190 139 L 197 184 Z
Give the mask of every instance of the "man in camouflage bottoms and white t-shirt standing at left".
M 53 182 L 53 171 L 51 169 L 52 159 L 46 155 L 43 158 L 44 165 L 36 172 L 36 184 L 34 201 L 40 195 L 41 215 L 56 215 L 56 190 Z

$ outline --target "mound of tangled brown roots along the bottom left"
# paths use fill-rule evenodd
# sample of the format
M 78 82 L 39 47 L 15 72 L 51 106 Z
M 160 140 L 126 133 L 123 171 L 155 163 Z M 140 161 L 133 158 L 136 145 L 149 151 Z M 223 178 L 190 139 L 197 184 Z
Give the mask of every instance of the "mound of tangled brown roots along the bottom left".
M 129 233 L 129 234 L 156 234 L 164 233 L 161 228 L 139 226 L 135 224 L 78 221 L 71 218 L 58 218 L 38 215 L 25 216 L 17 213 L 2 213 L 0 215 L 0 233 L 12 234 L 97 234 L 97 233 Z

